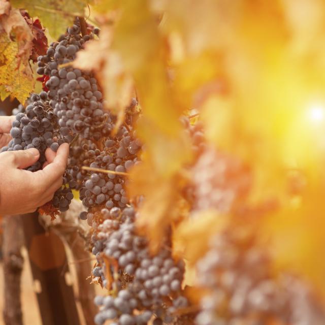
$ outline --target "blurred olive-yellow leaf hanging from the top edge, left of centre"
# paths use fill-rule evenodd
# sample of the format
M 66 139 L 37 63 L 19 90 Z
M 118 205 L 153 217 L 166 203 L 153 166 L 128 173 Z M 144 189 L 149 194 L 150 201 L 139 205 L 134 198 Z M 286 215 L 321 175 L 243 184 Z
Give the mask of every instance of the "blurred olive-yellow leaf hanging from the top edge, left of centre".
M 159 34 L 156 18 L 149 10 L 148 0 L 122 3 L 112 48 L 119 52 L 126 71 L 134 77 L 149 127 L 170 136 L 177 135 L 181 126 L 177 120 L 181 108 L 173 102 L 166 74 L 167 48 Z

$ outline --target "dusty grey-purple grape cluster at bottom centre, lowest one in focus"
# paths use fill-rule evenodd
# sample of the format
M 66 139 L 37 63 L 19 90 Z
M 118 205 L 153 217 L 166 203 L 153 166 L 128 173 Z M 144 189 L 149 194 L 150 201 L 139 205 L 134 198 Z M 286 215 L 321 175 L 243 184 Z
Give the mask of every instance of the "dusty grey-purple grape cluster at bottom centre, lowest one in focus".
M 167 247 L 153 256 L 149 253 L 146 238 L 136 234 L 134 208 L 121 210 L 114 207 L 110 211 L 104 209 L 102 214 L 105 220 L 93 238 L 93 253 L 99 262 L 104 253 L 117 262 L 118 269 L 105 270 L 104 266 L 98 266 L 93 275 L 101 277 L 107 286 L 104 275 L 107 271 L 115 272 L 118 275 L 117 279 L 116 274 L 114 277 L 117 297 L 95 298 L 95 304 L 101 306 L 95 318 L 96 324 L 103 324 L 108 319 L 117 324 L 147 324 L 153 315 L 156 323 L 172 321 L 175 318 L 173 313 L 188 305 L 181 288 L 183 261 L 176 263 Z M 140 313 L 134 313 L 135 310 Z

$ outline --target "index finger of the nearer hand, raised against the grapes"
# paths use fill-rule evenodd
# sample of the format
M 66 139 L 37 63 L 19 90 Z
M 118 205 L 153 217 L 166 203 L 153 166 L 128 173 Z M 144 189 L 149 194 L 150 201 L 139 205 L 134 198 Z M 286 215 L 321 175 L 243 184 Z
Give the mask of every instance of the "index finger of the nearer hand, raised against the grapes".
M 47 185 L 52 184 L 59 177 L 62 177 L 67 167 L 68 156 L 69 144 L 63 143 L 57 149 L 53 162 L 45 166 L 43 170 L 35 172 L 35 176 L 39 177 Z

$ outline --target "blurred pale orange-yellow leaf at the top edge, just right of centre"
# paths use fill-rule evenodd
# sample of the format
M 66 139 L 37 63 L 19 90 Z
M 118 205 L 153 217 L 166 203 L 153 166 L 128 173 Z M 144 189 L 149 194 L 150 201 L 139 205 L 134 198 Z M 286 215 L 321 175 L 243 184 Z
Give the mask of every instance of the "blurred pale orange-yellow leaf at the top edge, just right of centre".
M 233 40 L 233 27 L 242 6 L 243 1 L 167 0 L 160 8 L 166 15 L 162 28 L 180 32 L 186 52 L 195 55 Z

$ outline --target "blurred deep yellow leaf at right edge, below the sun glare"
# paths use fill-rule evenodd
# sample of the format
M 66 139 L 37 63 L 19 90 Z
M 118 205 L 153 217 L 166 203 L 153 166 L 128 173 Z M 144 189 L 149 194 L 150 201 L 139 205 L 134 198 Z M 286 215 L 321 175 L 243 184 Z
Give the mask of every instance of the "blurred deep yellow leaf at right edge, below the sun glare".
M 306 278 L 325 297 L 325 189 L 323 178 L 307 178 L 308 186 L 299 200 L 291 200 L 271 215 L 260 236 L 271 239 L 270 249 L 278 271 L 286 270 Z

